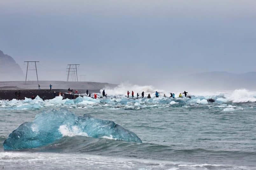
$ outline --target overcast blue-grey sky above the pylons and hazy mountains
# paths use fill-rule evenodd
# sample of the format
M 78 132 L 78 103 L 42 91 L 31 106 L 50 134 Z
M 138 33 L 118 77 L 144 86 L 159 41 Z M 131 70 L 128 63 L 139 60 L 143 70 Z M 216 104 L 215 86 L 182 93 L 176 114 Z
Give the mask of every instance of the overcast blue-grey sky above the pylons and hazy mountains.
M 39 80 L 66 80 L 67 64 L 86 81 L 139 85 L 256 71 L 256 1 L 1 0 L 0 50 L 24 74 L 40 61 Z

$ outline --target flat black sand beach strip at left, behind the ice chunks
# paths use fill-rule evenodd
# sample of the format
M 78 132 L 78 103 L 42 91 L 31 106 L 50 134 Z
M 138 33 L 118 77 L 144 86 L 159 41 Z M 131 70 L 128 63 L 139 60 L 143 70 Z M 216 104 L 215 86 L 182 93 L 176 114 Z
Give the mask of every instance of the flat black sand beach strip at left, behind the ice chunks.
M 35 89 L 27 89 L 27 90 L 22 90 L 22 89 L 17 89 L 17 90 L 3 90 L 0 89 L 0 100 L 12 100 L 15 99 L 15 91 L 20 91 L 21 95 L 20 95 L 20 99 L 24 100 L 25 97 L 26 98 L 32 98 L 32 96 L 36 97 L 39 96 L 40 98 L 42 98 L 42 96 L 45 96 L 45 99 L 53 99 L 54 98 L 54 91 L 56 91 L 56 94 L 58 96 L 59 92 L 64 92 L 65 93 L 65 98 L 69 98 L 72 99 L 73 98 L 73 94 L 66 94 L 67 90 L 65 89 L 52 89 L 51 91 L 49 89 L 41 89 L 41 90 L 35 90 Z M 86 93 L 86 90 L 84 89 L 78 89 L 79 93 Z M 89 93 L 99 93 L 100 90 L 89 90 Z M 80 95 L 83 97 L 83 95 Z M 92 95 L 93 96 L 93 95 Z

